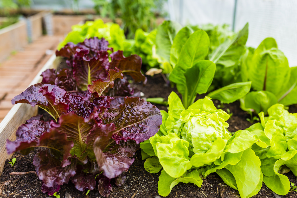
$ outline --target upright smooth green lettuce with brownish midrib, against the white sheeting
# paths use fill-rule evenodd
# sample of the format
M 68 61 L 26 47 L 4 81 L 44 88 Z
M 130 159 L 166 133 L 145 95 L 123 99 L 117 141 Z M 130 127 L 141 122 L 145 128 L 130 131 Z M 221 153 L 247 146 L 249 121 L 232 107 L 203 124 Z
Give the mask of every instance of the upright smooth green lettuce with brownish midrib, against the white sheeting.
M 260 113 L 273 104 L 297 103 L 297 67 L 289 67 L 284 53 L 273 38 L 264 39 L 255 50 L 249 50 L 242 60 L 242 76 L 252 82 L 252 89 L 241 99 L 241 109 Z

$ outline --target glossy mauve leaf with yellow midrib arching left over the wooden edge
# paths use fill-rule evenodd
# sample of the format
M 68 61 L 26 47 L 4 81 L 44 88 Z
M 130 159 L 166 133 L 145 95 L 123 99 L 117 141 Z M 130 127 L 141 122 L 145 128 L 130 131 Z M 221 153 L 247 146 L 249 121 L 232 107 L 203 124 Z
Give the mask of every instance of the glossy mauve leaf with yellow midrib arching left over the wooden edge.
M 20 95 L 15 96 L 11 103 L 28 103 L 32 107 L 38 105 L 42 109 L 46 110 L 53 118 L 57 119 L 67 113 L 68 105 L 65 103 L 64 96 L 66 95 L 64 89 L 59 88 L 56 85 L 41 83 L 35 84 L 27 88 Z

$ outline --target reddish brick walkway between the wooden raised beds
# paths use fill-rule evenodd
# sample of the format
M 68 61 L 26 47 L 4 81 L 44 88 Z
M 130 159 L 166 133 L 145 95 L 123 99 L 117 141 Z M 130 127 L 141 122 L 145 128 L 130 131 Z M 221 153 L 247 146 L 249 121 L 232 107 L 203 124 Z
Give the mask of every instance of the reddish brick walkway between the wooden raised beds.
M 42 36 L 0 64 L 0 122 L 13 106 L 11 99 L 29 87 L 61 39 Z

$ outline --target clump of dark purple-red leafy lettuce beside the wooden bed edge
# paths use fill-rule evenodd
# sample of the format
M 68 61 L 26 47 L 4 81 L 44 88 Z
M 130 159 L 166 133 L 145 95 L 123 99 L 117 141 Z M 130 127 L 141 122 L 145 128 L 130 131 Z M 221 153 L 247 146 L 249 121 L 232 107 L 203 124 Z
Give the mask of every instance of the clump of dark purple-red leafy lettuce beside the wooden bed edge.
M 97 184 L 107 197 L 111 179 L 118 186 L 124 182 L 138 144 L 156 134 L 162 123 L 157 107 L 139 97 L 127 97 L 135 93 L 124 74 L 146 81 L 140 72 L 141 58 L 126 58 L 117 51 L 109 62 L 107 50 L 112 49 L 105 39 L 67 44 L 57 55 L 68 58 L 69 68 L 43 72 L 42 83 L 12 99 L 12 104 L 37 105 L 55 120 L 32 117 L 18 128 L 16 140 L 7 140 L 6 145 L 9 154 L 44 148 L 33 164 L 43 181 L 42 192 L 48 195 L 72 181 L 80 191 L 93 190 Z

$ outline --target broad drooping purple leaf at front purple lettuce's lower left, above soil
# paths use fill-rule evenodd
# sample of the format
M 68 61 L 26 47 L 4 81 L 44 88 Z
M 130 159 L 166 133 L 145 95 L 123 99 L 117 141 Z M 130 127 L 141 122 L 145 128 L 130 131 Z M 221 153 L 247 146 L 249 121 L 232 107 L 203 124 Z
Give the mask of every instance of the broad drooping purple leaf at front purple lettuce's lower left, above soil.
M 50 149 L 35 154 L 33 164 L 38 178 L 47 187 L 68 183 L 69 179 L 76 173 L 75 159 L 72 159 L 72 162 L 68 166 L 62 167 L 61 161 L 53 157 Z

